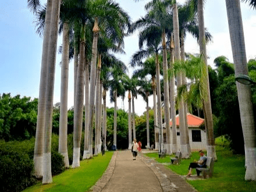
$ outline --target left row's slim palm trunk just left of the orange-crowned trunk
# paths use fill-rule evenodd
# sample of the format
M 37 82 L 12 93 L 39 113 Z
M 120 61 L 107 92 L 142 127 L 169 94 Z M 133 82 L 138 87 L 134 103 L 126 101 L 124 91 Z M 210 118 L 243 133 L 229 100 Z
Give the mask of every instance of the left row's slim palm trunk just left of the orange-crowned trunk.
M 90 158 L 89 153 L 89 62 L 86 60 L 85 67 L 85 87 L 84 87 L 84 154 L 83 159 Z

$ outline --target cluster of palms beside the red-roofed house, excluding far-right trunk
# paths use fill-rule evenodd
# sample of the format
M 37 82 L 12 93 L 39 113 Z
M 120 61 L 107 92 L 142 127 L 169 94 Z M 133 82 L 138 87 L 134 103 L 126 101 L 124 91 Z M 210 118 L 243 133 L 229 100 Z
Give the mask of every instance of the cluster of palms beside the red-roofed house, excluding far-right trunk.
M 148 10 L 147 15 L 139 19 L 133 24 L 133 30 L 141 29 L 139 37 L 140 51 L 133 55 L 133 60 L 131 61 L 131 66 L 143 66 L 147 63 L 141 63 L 141 59 L 154 54 L 155 55 L 155 69 L 151 72 L 152 81 L 155 80 L 157 83 L 157 112 L 155 113 L 155 127 L 158 127 L 160 131 L 159 138 L 163 138 L 162 131 L 162 110 L 161 110 L 161 89 L 160 89 L 160 68 L 159 68 L 159 52 L 162 52 L 162 63 L 163 63 L 163 91 L 164 91 L 164 105 L 165 105 L 165 125 L 166 125 L 166 150 L 168 154 L 177 151 L 177 138 L 176 138 L 176 110 L 175 110 L 175 73 L 177 78 L 177 87 L 182 87 L 186 84 L 186 73 L 182 70 L 173 70 L 174 62 L 180 62 L 185 60 L 184 54 L 184 37 L 186 33 L 189 32 L 194 35 L 194 37 L 201 37 L 200 35 L 200 24 L 198 24 L 197 15 L 199 15 L 196 7 L 197 1 L 187 1 L 184 6 L 177 6 L 176 1 L 151 1 L 145 8 Z M 179 15 L 179 16 L 178 16 Z M 204 26 L 201 27 L 204 29 Z M 205 31 L 205 29 L 204 29 Z M 211 35 L 209 33 L 203 34 L 207 37 L 207 40 L 211 40 Z M 168 42 L 170 45 L 170 78 L 168 76 L 168 61 L 167 61 L 167 49 L 166 49 L 166 36 L 168 37 Z M 199 38 L 200 39 L 200 38 Z M 174 42 L 173 42 L 174 40 Z M 162 41 L 162 44 L 161 44 Z M 180 45 L 180 42 L 181 45 Z M 205 41 L 204 41 L 205 42 Z M 145 49 L 143 45 L 145 44 Z M 207 66 L 207 65 L 205 65 Z M 170 82 L 170 83 L 169 83 Z M 205 86 L 209 87 L 209 84 Z M 209 92 L 208 92 L 209 93 Z M 208 94 L 209 95 L 209 94 Z M 154 96 L 155 98 L 155 96 Z M 209 98 L 204 101 L 210 101 Z M 154 104 L 156 106 L 156 104 Z M 170 107 L 169 107 L 170 106 Z M 183 157 L 189 157 L 190 154 L 190 144 L 189 144 L 189 133 L 187 129 L 187 104 L 183 101 L 183 98 L 179 99 L 179 118 L 180 118 L 180 150 L 182 151 Z M 208 107 L 208 105 L 207 105 Z M 170 109 L 170 110 L 169 110 Z M 212 122 L 211 113 L 208 114 L 208 121 Z M 208 109 L 211 111 L 211 108 Z M 172 126 L 172 133 L 170 131 L 169 120 L 170 113 L 172 119 L 174 120 Z M 157 117 L 156 117 L 157 116 Z M 158 119 L 158 120 L 157 120 Z M 212 123 L 207 126 L 209 130 L 208 137 L 208 156 L 214 157 L 216 159 L 216 153 L 214 148 L 214 135 Z M 157 132 L 157 131 L 156 131 Z M 172 136 L 172 138 L 171 138 Z M 211 138 L 211 139 L 210 139 Z M 158 145 L 157 134 L 155 136 L 156 146 Z M 213 141 L 213 143 L 212 143 Z M 162 141 L 160 142 L 162 145 Z M 162 148 L 162 146 L 161 146 Z

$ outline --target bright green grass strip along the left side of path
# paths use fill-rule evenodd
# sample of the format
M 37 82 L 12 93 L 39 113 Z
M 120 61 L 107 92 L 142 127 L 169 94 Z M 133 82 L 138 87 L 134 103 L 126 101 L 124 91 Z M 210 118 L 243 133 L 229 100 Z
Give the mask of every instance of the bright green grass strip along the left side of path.
M 79 168 L 70 168 L 52 177 L 51 184 L 43 185 L 38 182 L 24 191 L 88 191 L 103 175 L 112 155 L 113 152 L 106 152 L 103 156 L 98 154 L 91 159 L 80 161 Z

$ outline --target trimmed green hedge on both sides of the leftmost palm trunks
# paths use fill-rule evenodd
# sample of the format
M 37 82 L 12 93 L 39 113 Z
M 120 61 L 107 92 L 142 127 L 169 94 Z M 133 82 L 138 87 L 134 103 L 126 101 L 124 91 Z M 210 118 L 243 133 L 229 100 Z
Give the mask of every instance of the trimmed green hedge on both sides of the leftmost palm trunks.
M 65 170 L 64 157 L 58 153 L 59 137 L 52 134 L 52 175 Z M 0 191 L 22 191 L 35 184 L 34 173 L 35 138 L 26 141 L 0 140 Z

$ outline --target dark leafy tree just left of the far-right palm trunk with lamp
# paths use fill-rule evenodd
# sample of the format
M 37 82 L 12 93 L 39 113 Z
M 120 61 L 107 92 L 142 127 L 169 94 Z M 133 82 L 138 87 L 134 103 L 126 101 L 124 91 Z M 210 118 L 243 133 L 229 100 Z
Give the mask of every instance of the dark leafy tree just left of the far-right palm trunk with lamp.
M 218 122 L 214 129 L 215 137 L 227 135 L 231 141 L 230 147 L 235 153 L 244 153 L 243 132 L 239 112 L 234 74 L 223 79 L 215 90 L 216 106 L 219 109 Z

